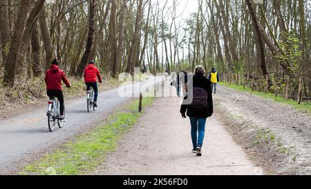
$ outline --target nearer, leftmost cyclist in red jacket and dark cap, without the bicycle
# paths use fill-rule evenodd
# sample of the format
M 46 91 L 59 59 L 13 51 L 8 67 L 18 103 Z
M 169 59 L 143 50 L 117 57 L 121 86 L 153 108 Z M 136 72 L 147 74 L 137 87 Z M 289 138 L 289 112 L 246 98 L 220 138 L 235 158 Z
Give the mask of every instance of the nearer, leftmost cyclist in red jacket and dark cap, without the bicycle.
M 62 91 L 62 81 L 66 84 L 66 87 L 70 88 L 70 83 L 68 82 L 68 79 L 66 78 L 66 75 L 64 71 L 59 69 L 58 66 L 59 62 L 55 58 L 50 66 L 50 69 L 46 71 L 46 89 L 47 89 L 47 95 L 49 98 L 57 98 L 59 100 L 59 109 L 60 109 L 60 115 L 59 118 L 61 121 L 65 121 L 64 116 L 64 95 Z

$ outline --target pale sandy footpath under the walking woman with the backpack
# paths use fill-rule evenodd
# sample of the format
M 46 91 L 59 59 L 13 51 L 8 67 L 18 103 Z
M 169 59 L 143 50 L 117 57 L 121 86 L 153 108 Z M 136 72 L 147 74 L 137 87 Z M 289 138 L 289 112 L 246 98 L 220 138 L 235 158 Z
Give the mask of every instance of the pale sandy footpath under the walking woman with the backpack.
M 189 118 L 182 120 L 179 104 L 180 98 L 156 100 L 93 174 L 263 174 L 214 117 L 202 157 L 192 154 Z

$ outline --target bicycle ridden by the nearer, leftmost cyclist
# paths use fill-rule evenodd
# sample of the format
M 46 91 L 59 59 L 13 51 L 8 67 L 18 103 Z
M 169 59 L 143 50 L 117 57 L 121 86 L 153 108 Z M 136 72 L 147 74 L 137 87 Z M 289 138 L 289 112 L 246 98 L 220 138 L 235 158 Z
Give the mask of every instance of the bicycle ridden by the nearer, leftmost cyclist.
M 59 100 L 55 100 L 55 97 L 50 98 L 48 101 L 48 112 L 46 116 L 48 116 L 48 129 L 50 132 L 54 131 L 56 125 L 60 129 L 64 127 L 65 123 L 60 120 Z

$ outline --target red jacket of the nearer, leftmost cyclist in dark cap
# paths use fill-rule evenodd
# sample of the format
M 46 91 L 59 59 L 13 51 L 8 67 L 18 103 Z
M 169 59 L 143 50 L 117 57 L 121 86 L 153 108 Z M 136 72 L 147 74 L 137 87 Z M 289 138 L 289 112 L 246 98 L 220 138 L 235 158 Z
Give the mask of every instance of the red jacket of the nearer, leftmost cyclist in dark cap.
M 46 71 L 46 89 L 62 91 L 62 81 L 67 87 L 70 87 L 70 83 L 68 82 L 64 71 L 59 69 L 57 65 L 53 64 L 50 66 L 50 69 Z

